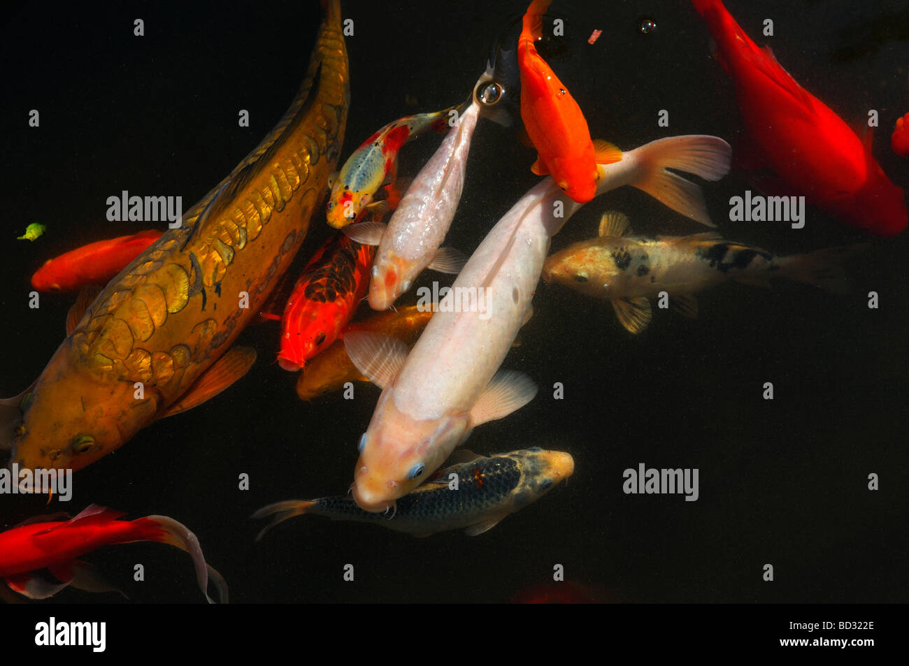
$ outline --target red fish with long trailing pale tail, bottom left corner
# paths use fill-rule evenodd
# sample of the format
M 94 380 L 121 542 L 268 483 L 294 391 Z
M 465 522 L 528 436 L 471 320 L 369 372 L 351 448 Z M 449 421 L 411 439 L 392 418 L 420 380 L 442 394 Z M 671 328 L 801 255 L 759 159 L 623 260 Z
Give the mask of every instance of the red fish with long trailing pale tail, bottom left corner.
M 66 522 L 31 522 L 0 532 L 0 578 L 9 587 L 30 599 L 47 599 L 68 585 L 88 591 L 113 591 L 95 571 L 76 558 L 102 546 L 130 542 L 170 543 L 188 552 L 195 564 L 195 580 L 209 603 L 208 577 L 212 577 L 222 603 L 227 585 L 221 574 L 205 562 L 195 534 L 167 516 L 147 516 L 135 521 L 117 520 L 125 515 L 92 504 Z M 60 581 L 47 582 L 35 575 L 48 569 Z

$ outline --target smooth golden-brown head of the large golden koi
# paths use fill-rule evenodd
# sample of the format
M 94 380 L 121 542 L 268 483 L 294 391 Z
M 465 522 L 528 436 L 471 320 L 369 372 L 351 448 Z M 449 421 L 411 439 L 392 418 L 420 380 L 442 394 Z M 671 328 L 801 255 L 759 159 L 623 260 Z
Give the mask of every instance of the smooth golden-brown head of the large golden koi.
M 130 382 L 97 381 L 70 362 L 67 349 L 57 350 L 19 404 L 10 455 L 19 468 L 82 469 L 155 418 L 155 397 L 137 400 Z

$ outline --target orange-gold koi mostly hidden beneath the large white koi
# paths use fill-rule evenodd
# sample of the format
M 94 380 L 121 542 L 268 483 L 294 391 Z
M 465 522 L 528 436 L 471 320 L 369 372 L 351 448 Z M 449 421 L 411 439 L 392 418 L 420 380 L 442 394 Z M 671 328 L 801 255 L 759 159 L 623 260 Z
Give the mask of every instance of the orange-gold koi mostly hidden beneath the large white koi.
M 432 309 L 407 305 L 397 308 L 396 311 L 386 310 L 362 322 L 349 324 L 325 352 L 320 353 L 306 365 L 305 371 L 300 373 L 297 379 L 296 394 L 301 400 L 308 401 L 324 393 L 338 391 L 347 382 L 369 382 L 347 355 L 343 340 L 345 333 L 351 331 L 384 333 L 410 345 L 416 342 L 420 333 L 423 333 L 426 323 L 432 316 Z

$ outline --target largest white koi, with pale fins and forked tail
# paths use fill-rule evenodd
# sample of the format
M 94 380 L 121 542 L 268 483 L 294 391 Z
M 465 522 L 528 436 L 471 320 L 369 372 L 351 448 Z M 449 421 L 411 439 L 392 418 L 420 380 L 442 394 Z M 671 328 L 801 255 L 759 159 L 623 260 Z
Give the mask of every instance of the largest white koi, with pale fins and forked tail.
M 718 180 L 730 157 L 729 144 L 714 136 L 660 139 L 623 154 L 617 163 L 599 165 L 596 194 L 633 184 L 710 224 L 700 187 L 665 167 Z M 550 237 L 580 207 L 551 177 L 524 194 L 464 265 L 409 355 L 394 338 L 345 335 L 357 369 L 383 389 L 360 438 L 352 490 L 362 509 L 394 508 L 395 500 L 435 472 L 475 426 L 501 419 L 534 397 L 536 386 L 524 374 L 497 371 L 530 316 Z M 558 209 L 563 217 L 554 216 Z M 477 312 L 481 308 L 472 305 L 480 299 L 473 294 L 480 289 L 484 308 Z M 453 307 L 455 299 L 460 308 Z

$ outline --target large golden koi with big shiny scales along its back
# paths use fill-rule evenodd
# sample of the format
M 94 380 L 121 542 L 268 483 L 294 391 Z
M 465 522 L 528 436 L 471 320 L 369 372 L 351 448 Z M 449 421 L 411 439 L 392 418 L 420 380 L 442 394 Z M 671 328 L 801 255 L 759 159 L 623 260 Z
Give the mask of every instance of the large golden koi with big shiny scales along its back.
M 81 469 L 255 361 L 227 350 L 303 243 L 344 140 L 347 52 L 339 0 L 325 5 L 304 82 L 271 134 L 107 285 L 25 393 L 0 404 L 11 462 Z

